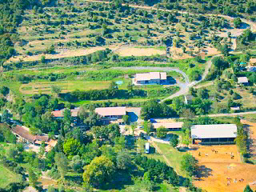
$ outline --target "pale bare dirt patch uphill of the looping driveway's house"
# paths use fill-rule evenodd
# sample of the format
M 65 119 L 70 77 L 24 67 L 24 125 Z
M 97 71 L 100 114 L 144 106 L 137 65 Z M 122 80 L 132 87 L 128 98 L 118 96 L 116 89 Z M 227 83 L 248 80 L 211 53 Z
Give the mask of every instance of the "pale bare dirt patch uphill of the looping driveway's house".
M 121 56 L 151 56 L 155 54 L 166 54 L 164 50 L 157 50 L 154 48 L 122 48 L 116 51 Z

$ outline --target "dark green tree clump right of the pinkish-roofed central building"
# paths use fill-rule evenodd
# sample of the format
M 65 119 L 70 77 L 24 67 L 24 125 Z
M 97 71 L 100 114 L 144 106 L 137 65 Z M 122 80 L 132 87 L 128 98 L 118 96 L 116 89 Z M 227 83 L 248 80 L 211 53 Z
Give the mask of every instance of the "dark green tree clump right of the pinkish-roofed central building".
M 141 116 L 147 120 L 150 118 L 174 117 L 177 115 L 175 111 L 164 103 L 158 103 L 155 100 L 146 102 L 142 106 Z

